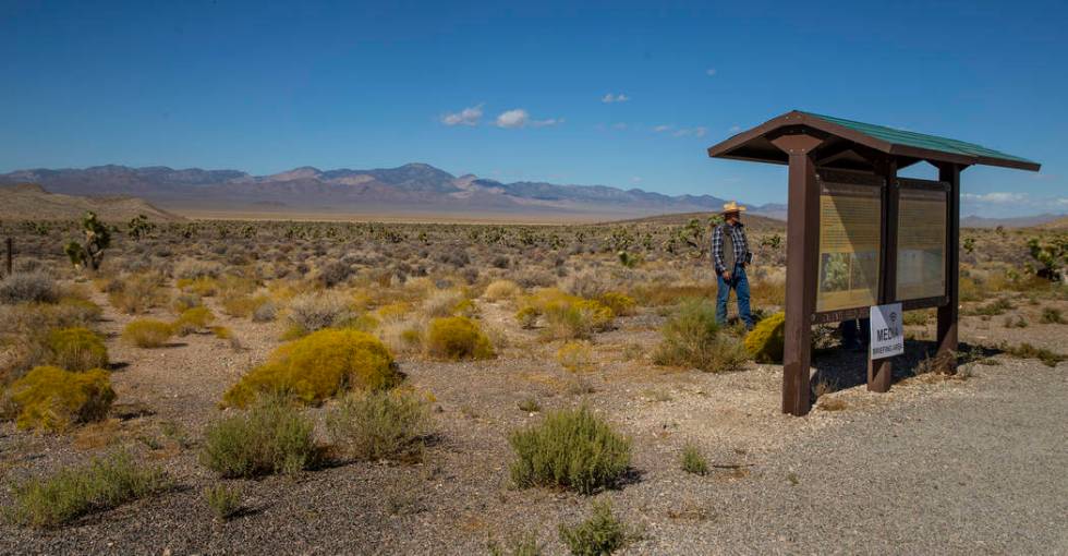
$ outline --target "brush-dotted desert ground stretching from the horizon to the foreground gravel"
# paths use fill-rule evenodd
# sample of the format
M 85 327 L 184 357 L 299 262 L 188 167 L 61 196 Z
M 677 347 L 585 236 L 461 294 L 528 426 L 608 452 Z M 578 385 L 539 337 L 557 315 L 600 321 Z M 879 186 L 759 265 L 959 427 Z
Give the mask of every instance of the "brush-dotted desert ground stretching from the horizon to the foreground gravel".
M 605 500 L 617 554 L 1068 552 L 1068 289 L 1028 247 L 1063 249 L 1061 229 L 962 232 L 956 372 L 930 358 L 931 311 L 907 315 L 888 394 L 866 391 L 864 353 L 818 327 L 804 418 L 780 413 L 781 366 L 743 327 L 703 327 L 704 218 L 132 221 L 110 229 L 96 270 L 64 255 L 78 222 L 0 232 L 15 244 L 0 288 L 4 554 L 566 554 L 561 525 Z M 754 307 L 770 321 L 782 223 L 754 219 L 750 242 Z M 168 327 L 138 337 L 146 319 Z M 473 324 L 477 346 L 442 351 L 434 329 L 448 319 Z M 21 379 L 87 356 L 52 340 L 69 328 L 102 342 L 114 398 L 92 414 L 31 412 Z M 342 384 L 283 403 L 314 424 L 314 461 L 220 471 L 209 431 L 253 411 L 228 392 L 275 350 L 331 330 L 381 342 L 392 389 L 418 400 L 418 434 L 397 454 L 347 452 L 330 423 L 359 388 Z M 588 492 L 519 484 L 514 432 L 575 408 L 629 442 L 626 470 Z M 54 507 L 73 503 L 43 484 L 116 454 L 157 487 Z M 228 510 L 213 489 L 232 493 Z

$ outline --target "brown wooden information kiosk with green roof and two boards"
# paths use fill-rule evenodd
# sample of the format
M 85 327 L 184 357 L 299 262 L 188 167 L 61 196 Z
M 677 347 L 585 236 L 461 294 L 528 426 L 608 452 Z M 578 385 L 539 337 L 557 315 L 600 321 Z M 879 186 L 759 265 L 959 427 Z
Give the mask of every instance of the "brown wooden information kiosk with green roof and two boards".
M 812 325 L 872 305 L 938 307 L 938 352 L 957 350 L 960 172 L 1037 162 L 971 143 L 792 111 L 708 148 L 713 158 L 789 165 L 782 412 L 811 408 Z M 938 180 L 897 177 L 926 160 Z M 891 359 L 867 361 L 867 389 L 890 389 Z

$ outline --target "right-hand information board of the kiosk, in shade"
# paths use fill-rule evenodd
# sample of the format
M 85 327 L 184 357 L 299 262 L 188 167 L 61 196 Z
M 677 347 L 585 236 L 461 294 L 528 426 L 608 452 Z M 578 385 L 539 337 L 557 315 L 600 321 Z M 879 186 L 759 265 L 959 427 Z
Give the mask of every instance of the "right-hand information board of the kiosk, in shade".
M 939 182 L 901 182 L 897 300 L 946 294 L 946 191 Z

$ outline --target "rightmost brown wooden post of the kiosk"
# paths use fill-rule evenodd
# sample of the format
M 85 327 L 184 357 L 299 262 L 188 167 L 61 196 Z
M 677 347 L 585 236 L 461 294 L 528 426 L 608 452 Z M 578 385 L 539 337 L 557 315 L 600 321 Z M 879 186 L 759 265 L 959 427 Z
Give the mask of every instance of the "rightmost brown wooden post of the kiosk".
M 960 165 L 938 165 L 938 180 L 949 183 L 946 197 L 946 297 L 948 302 L 938 307 L 938 355 L 946 355 L 947 364 L 957 368 L 957 317 L 960 307 Z

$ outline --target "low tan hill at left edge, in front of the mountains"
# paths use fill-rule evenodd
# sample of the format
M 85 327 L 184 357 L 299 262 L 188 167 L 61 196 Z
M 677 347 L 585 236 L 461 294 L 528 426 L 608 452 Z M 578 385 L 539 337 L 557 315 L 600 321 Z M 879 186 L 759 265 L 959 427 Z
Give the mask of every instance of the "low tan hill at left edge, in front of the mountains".
M 53 194 L 35 183 L 0 185 L 0 220 L 69 220 L 81 218 L 87 210 L 107 221 L 125 221 L 138 215 L 156 221 L 184 220 L 136 197 Z

